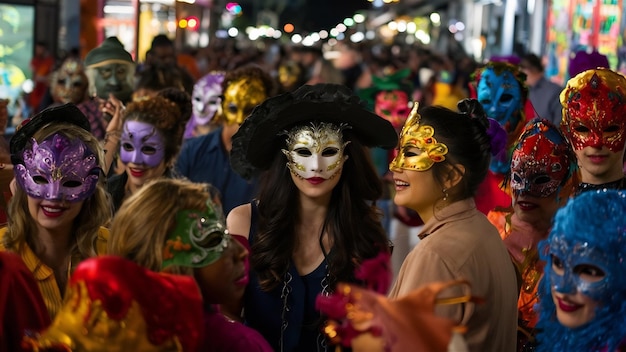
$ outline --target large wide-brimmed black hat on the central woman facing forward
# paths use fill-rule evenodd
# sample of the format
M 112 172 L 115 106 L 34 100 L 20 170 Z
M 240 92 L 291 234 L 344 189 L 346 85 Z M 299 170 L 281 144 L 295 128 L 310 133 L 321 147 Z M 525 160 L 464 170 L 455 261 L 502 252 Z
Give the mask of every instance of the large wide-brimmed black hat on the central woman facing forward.
M 339 84 L 304 85 L 265 100 L 233 136 L 231 165 L 244 178 L 267 170 L 285 148 L 282 132 L 309 122 L 347 124 L 367 147 L 395 148 L 398 134 L 391 123 L 367 110 L 365 102 Z

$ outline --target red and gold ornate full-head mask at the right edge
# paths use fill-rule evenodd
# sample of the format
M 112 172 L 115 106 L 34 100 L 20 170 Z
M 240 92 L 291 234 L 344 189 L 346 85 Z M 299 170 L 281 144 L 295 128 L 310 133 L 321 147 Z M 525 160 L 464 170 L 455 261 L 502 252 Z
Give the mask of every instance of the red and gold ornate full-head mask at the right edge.
M 575 150 L 606 146 L 624 150 L 626 78 L 609 69 L 587 70 L 567 82 L 561 93 L 563 127 Z

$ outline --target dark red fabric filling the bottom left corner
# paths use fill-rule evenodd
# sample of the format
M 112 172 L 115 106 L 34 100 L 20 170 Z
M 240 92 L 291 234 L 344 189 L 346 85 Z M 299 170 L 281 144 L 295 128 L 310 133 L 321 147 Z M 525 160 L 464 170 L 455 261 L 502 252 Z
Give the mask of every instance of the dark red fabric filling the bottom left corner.
M 16 254 L 0 252 L 0 352 L 27 351 L 24 334 L 50 325 L 33 274 Z

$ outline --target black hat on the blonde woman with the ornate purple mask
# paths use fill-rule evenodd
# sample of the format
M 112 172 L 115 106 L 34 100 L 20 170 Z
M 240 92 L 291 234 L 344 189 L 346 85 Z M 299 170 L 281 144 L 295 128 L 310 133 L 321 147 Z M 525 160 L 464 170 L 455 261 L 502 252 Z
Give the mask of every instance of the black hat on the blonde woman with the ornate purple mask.
M 76 105 L 67 103 L 44 109 L 35 116 L 24 120 L 11 137 L 11 141 L 9 142 L 9 151 L 11 152 L 11 162 L 13 165 L 22 163 L 22 152 L 24 151 L 28 141 L 43 126 L 51 123 L 67 123 L 76 125 L 91 133 L 89 120 L 85 114 L 83 114 L 83 112 L 76 107 Z

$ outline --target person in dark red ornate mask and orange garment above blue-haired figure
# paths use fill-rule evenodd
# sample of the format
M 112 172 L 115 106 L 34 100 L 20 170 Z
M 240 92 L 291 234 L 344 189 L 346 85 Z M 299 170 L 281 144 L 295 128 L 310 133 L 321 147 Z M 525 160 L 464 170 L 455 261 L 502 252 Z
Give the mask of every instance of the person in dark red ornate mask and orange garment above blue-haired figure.
M 521 276 L 518 351 L 535 345 L 537 286 L 544 263 L 537 244 L 550 233 L 556 211 L 573 195 L 580 174 L 576 155 L 558 127 L 533 119 L 513 150 L 510 180 L 512 209 L 492 210 L 488 217 L 500 231 Z

